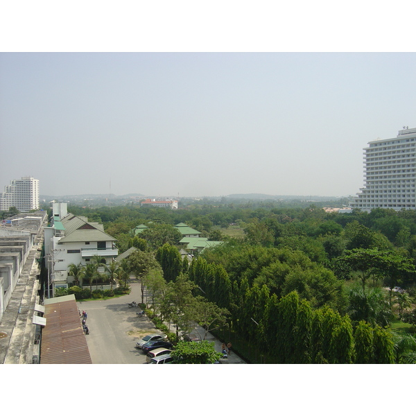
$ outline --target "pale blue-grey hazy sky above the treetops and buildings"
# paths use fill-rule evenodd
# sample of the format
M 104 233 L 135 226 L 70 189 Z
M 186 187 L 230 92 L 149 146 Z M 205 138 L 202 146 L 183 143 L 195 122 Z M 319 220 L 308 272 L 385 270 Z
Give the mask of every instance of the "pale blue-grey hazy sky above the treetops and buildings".
M 354 195 L 416 127 L 415 53 L 0 53 L 0 189 Z

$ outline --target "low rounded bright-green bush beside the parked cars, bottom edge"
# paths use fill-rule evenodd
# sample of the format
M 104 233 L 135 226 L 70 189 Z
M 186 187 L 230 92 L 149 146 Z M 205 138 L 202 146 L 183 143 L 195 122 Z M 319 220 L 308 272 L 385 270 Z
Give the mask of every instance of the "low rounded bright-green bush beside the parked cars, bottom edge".
M 175 358 L 174 363 L 177 364 L 213 364 L 223 354 L 216 352 L 214 344 L 209 341 L 200 343 L 180 341 L 171 352 L 171 356 Z

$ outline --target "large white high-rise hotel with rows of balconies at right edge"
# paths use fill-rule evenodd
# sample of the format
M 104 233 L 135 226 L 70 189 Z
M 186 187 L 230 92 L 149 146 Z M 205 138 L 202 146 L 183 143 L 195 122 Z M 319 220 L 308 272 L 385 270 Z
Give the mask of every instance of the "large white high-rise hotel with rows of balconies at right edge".
M 370 141 L 364 148 L 364 187 L 352 207 L 416 209 L 416 128 L 395 139 Z

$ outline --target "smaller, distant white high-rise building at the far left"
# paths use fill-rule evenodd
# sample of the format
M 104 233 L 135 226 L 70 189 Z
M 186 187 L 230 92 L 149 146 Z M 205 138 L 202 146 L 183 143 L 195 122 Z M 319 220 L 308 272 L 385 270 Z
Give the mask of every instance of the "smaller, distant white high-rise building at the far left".
M 26 176 L 6 185 L 0 193 L 0 211 L 8 211 L 10 207 L 21 212 L 39 209 L 39 180 Z

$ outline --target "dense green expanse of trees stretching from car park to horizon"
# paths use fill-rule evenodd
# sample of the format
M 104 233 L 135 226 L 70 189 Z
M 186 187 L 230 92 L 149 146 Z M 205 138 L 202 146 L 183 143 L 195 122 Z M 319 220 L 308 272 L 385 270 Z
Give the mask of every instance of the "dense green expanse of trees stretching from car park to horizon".
M 207 326 L 203 313 L 214 309 L 198 303 L 202 295 L 227 315 L 228 333 L 267 362 L 408 363 L 414 357 L 410 341 L 398 353 L 404 343 L 391 323 L 414 325 L 416 211 L 338 214 L 276 202 L 73 210 L 103 221 L 120 252 L 138 249 L 131 270 L 151 293 L 155 313 L 176 320 L 178 335 L 192 322 Z M 177 223 L 224 243 L 188 264 Z M 148 229 L 136 235 L 141 224 Z M 236 228 L 238 237 L 230 232 Z

